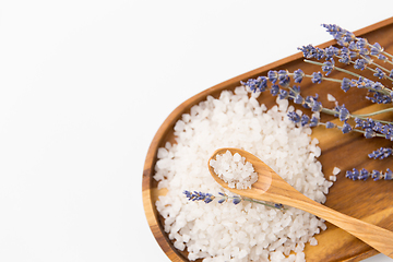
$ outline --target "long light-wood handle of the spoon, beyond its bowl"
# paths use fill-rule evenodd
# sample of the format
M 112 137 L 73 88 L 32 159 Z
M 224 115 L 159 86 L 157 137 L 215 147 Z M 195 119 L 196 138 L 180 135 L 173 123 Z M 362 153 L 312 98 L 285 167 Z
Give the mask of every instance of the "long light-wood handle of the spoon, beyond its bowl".
M 331 210 L 302 194 L 301 196 L 303 198 L 297 198 L 298 201 L 289 201 L 290 205 L 332 223 L 393 259 L 393 231 Z

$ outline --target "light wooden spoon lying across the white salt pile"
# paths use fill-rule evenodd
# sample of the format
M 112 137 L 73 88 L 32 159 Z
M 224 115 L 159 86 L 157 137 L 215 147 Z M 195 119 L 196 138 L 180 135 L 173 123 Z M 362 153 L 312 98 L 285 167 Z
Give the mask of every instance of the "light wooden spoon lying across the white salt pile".
M 233 189 L 214 172 L 213 167 L 209 164 L 209 170 L 213 178 L 225 189 L 241 196 L 290 205 L 309 212 L 346 230 L 381 253 L 393 259 L 392 231 L 344 215 L 307 198 L 294 189 L 261 159 L 247 151 L 238 148 L 219 148 L 212 155 L 209 163 L 212 158 L 215 159 L 216 155 L 225 154 L 227 151 L 233 155 L 238 153 L 246 157 L 246 160 L 253 165 L 259 178 L 258 181 L 251 186 L 251 189 Z

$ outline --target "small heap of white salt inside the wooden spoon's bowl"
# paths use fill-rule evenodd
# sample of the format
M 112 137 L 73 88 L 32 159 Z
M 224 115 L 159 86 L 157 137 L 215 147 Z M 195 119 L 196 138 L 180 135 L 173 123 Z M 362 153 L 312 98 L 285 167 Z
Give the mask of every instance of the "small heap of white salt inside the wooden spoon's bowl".
M 246 162 L 246 157 L 239 153 L 233 155 L 227 151 L 225 154 L 216 155 L 216 159 L 211 159 L 210 165 L 229 188 L 248 189 L 258 180 L 252 164 Z

